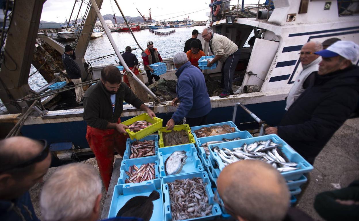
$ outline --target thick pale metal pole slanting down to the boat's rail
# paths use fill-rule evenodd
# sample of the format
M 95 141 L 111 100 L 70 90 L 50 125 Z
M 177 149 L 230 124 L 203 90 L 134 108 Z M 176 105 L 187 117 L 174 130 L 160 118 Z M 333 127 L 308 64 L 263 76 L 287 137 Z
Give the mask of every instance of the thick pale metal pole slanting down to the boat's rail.
M 103 16 L 101 15 L 100 13 L 100 10 L 96 4 L 96 1 L 95 0 L 91 0 L 91 3 L 92 3 L 92 6 L 97 14 L 97 17 L 99 18 L 103 28 L 105 29 L 105 32 L 106 32 L 106 35 L 107 35 L 107 38 L 108 40 L 110 41 L 111 45 L 112 45 L 112 48 L 113 50 L 115 50 L 116 52 L 116 55 L 118 57 L 118 59 L 120 60 L 121 62 L 121 65 L 125 68 L 126 72 L 128 75 L 130 75 L 133 80 L 135 80 L 137 83 L 139 83 L 144 89 L 145 91 L 151 96 L 153 97 L 153 100 L 154 100 L 154 104 L 159 104 L 159 103 L 163 103 L 159 97 L 157 97 L 142 81 L 140 81 L 139 78 L 136 77 L 136 75 L 134 75 L 134 73 L 130 70 L 130 68 L 127 66 L 127 64 L 125 63 L 125 61 L 123 60 L 121 54 L 120 54 L 120 51 L 118 51 L 118 48 L 116 46 L 116 43 L 115 41 L 113 40 L 112 38 L 112 35 L 111 35 L 111 32 L 110 30 L 108 29 L 106 23 L 105 23 L 105 20 L 103 19 Z

